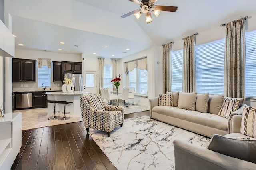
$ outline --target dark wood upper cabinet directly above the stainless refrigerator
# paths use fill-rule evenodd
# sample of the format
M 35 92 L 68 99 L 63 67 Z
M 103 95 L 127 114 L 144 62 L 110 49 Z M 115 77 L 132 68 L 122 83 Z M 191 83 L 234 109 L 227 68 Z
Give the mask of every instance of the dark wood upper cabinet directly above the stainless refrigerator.
M 78 73 L 82 74 L 82 62 L 62 61 L 63 73 Z

